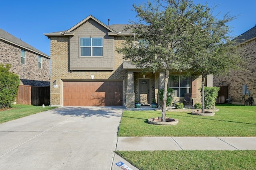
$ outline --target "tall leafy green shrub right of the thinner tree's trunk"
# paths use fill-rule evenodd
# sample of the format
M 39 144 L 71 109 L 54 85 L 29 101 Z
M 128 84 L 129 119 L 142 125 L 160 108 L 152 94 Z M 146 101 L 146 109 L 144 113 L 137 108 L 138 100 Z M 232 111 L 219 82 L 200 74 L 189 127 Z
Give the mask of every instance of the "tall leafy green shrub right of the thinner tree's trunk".
M 211 109 L 215 105 L 220 87 L 204 87 L 204 108 Z

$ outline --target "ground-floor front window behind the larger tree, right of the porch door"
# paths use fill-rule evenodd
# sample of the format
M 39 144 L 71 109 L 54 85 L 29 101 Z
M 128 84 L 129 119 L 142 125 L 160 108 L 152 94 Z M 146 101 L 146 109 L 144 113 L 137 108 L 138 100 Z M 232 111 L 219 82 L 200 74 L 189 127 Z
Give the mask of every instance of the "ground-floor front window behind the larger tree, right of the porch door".
M 174 89 L 174 96 L 176 97 L 184 97 L 185 93 L 191 91 L 190 77 L 184 75 L 170 75 L 168 85 Z

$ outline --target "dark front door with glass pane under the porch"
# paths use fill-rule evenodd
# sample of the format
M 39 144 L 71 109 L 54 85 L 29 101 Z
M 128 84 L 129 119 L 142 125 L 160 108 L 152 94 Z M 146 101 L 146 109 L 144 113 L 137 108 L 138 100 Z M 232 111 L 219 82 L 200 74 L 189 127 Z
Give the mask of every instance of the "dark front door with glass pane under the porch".
M 139 79 L 139 100 L 142 104 L 149 103 L 149 79 Z

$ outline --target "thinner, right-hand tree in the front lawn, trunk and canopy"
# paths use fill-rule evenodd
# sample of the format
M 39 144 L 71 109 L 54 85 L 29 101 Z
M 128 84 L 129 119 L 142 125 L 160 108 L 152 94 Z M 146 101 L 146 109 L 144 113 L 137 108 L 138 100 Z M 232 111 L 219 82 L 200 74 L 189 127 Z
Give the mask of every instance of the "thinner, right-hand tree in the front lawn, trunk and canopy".
M 214 9 L 214 8 L 213 8 Z M 242 48 L 232 41 L 228 22 L 236 16 L 225 14 L 220 20 L 213 16 L 212 10 L 205 8 L 204 20 L 194 24 L 194 42 L 189 44 L 188 72 L 201 75 L 202 113 L 205 109 L 204 81 L 207 75 L 224 75 L 230 70 L 238 70 L 243 65 Z

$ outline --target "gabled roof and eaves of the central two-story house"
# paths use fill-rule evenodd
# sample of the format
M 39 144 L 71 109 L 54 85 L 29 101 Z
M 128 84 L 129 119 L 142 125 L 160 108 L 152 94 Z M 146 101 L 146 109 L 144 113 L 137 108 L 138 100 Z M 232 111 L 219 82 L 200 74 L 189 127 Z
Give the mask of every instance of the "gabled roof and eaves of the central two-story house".
M 101 26 L 103 26 L 104 28 L 106 28 L 108 30 L 108 35 L 111 35 L 111 36 L 131 35 L 129 31 L 124 31 L 124 28 L 125 28 L 125 26 L 127 26 L 127 24 L 113 24 L 113 25 L 107 26 L 106 24 L 102 23 L 100 20 L 98 20 L 97 18 L 95 18 L 92 15 L 89 15 L 88 17 L 86 17 L 84 20 L 80 21 L 78 24 L 76 24 L 69 30 L 46 33 L 44 35 L 48 36 L 48 37 L 50 37 L 50 36 L 74 36 L 74 30 L 79 28 L 82 24 L 88 22 L 88 20 L 94 20 L 94 21 L 98 22 L 98 24 L 100 24 Z

